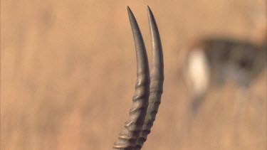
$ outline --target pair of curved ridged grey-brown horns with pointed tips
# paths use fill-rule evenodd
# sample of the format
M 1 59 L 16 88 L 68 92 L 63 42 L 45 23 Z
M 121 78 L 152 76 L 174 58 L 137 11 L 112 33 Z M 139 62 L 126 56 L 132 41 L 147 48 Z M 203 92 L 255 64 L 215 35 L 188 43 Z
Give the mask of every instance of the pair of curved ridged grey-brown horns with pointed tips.
M 150 7 L 147 6 L 152 38 L 151 73 L 140 28 L 129 6 L 127 6 L 127 11 L 135 41 L 137 81 L 129 118 L 125 122 L 125 127 L 120 132 L 117 141 L 114 143 L 113 149 L 136 150 L 142 148 L 155 121 L 163 91 L 164 67 L 159 31 Z

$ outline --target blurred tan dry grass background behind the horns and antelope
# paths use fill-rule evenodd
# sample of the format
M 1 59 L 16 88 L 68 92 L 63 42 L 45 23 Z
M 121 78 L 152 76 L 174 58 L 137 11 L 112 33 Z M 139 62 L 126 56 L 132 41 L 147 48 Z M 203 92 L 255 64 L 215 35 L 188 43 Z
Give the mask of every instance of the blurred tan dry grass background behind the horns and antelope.
M 136 79 L 127 6 L 149 59 L 147 5 L 164 50 L 164 92 L 143 149 L 266 149 L 266 71 L 239 105 L 236 87 L 211 90 L 188 117 L 182 47 L 200 35 L 251 39 L 265 0 L 1 1 L 1 149 L 111 149 Z M 252 39 L 253 40 L 253 39 Z

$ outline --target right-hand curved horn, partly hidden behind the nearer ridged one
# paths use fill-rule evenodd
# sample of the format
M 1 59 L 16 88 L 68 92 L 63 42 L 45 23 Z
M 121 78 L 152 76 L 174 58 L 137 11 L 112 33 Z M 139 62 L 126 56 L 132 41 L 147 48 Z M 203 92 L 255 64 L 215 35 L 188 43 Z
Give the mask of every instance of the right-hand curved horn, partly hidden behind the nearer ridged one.
M 152 68 L 150 75 L 150 97 L 149 105 L 147 108 L 147 115 L 143 125 L 140 139 L 138 139 L 137 149 L 141 149 L 142 145 L 147 140 L 147 135 L 150 134 L 150 130 L 155 121 L 157 110 L 159 108 L 162 92 L 163 92 L 163 80 L 164 80 L 164 64 L 163 64 L 163 53 L 162 43 L 159 37 L 159 30 L 157 23 L 150 10 L 147 6 L 148 20 L 150 23 L 150 34 L 152 38 Z

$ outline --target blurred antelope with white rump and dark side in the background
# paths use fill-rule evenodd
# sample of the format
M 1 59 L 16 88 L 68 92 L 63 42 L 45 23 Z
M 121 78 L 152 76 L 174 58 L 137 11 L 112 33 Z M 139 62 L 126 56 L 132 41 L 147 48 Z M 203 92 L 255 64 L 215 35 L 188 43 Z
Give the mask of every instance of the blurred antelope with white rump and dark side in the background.
M 251 41 L 205 37 L 187 48 L 185 75 L 192 87 L 193 112 L 211 87 L 230 82 L 244 95 L 251 82 L 266 70 L 266 18 L 256 27 Z

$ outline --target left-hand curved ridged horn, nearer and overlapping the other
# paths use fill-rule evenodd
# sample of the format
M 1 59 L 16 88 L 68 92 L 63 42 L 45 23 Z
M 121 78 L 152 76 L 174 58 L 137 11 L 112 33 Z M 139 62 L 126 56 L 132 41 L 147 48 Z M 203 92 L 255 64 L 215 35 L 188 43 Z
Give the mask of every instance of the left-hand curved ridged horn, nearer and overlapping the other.
M 145 43 L 135 16 L 132 14 L 129 6 L 127 6 L 127 11 L 135 41 L 137 81 L 129 118 L 125 122 L 125 128 L 120 132 L 118 140 L 114 143 L 113 149 L 135 149 L 140 132 L 142 131 L 142 125 L 147 113 L 148 97 L 150 95 L 150 72 Z

